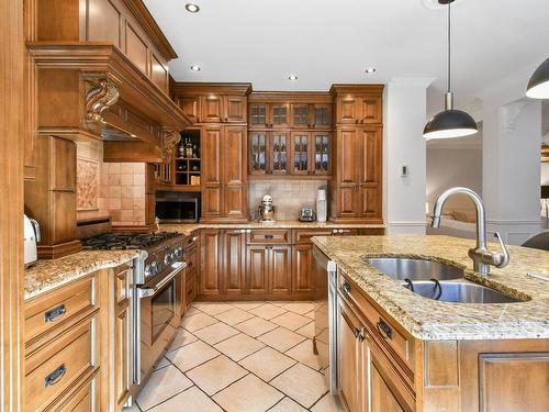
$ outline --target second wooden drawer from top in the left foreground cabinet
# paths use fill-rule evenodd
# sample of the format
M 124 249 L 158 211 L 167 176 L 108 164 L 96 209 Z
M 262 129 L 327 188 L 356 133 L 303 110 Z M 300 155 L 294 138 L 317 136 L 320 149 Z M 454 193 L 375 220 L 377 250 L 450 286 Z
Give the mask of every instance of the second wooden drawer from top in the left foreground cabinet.
M 42 411 L 67 388 L 93 371 L 98 358 L 96 318 L 48 341 L 25 359 L 25 411 Z

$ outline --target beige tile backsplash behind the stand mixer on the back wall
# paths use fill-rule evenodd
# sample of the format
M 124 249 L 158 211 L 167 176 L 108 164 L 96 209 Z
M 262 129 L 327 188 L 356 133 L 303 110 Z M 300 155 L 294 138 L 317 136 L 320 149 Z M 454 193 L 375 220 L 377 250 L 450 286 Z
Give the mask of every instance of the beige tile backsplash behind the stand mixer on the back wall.
M 257 219 L 257 208 L 264 194 L 274 204 L 274 220 L 296 220 L 301 208 L 316 208 L 316 191 L 327 189 L 327 180 L 255 180 L 248 187 L 250 218 Z

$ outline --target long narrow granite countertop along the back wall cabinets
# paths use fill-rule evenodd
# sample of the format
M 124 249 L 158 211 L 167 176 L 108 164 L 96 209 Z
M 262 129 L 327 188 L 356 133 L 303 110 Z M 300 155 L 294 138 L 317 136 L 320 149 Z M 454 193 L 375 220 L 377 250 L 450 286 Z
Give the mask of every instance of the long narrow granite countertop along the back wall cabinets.
M 163 223 L 160 231 L 179 232 L 190 234 L 199 229 L 385 229 L 384 224 L 341 224 L 341 223 L 318 223 L 300 221 L 274 221 L 274 223 L 265 224 L 257 221 L 247 223 Z

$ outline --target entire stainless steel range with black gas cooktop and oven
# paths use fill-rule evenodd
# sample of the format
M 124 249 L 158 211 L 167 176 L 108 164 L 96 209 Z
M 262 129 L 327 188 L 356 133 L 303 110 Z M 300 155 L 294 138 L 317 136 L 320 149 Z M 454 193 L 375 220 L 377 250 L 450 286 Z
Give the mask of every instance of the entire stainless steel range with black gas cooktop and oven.
M 184 267 L 179 233 L 105 233 L 82 240 L 85 249 L 138 249 L 132 285 L 133 396 L 172 339 L 181 319 Z

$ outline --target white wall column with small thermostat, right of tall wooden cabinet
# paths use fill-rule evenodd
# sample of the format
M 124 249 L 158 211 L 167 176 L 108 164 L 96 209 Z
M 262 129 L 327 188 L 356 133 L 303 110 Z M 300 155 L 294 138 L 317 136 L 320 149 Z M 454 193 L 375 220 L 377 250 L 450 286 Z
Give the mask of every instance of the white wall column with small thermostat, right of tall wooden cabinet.
M 389 234 L 425 234 L 426 97 L 430 79 L 400 78 L 385 89 L 383 204 Z M 407 166 L 408 176 L 401 176 Z

